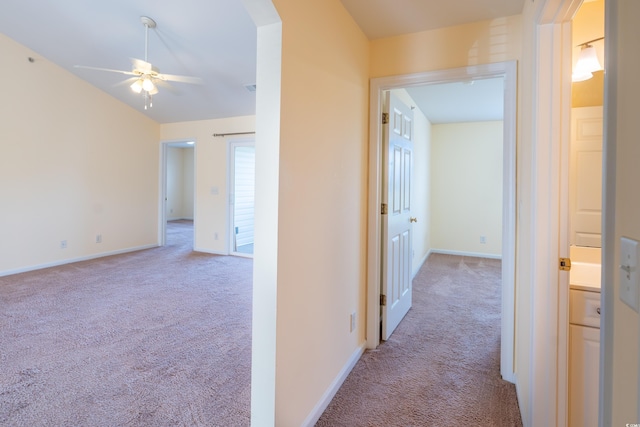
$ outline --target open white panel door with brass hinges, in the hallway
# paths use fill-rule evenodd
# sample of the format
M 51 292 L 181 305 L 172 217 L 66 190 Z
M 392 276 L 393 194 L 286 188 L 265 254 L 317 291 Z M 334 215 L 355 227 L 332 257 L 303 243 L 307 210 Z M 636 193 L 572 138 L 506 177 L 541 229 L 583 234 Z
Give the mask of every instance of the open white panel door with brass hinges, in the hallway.
M 386 94 L 382 203 L 382 336 L 389 339 L 411 308 L 413 112 Z M 384 212 L 386 210 L 386 213 Z

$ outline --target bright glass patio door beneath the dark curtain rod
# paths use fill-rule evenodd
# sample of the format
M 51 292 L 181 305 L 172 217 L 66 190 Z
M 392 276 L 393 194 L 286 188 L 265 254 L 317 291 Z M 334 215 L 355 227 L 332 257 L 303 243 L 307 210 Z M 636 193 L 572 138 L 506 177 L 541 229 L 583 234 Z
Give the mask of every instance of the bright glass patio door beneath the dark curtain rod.
M 229 142 L 229 253 L 253 257 L 255 141 Z

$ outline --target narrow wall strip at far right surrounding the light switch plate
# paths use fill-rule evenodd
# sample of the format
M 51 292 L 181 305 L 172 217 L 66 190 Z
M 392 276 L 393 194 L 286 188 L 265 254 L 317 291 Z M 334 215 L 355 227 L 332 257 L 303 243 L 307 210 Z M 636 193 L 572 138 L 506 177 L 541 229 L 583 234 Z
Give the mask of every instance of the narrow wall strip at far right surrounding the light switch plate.
M 608 155 L 615 155 L 615 164 L 607 163 L 610 178 L 615 177 L 615 217 L 607 222 L 606 230 L 613 231 L 612 239 L 606 240 L 610 246 L 605 252 L 613 252 L 613 257 L 605 254 L 605 296 L 611 298 L 605 302 L 606 308 L 613 308 L 613 325 L 607 331 L 613 332 L 613 365 L 611 372 L 613 393 L 612 419 L 605 420 L 604 425 L 625 425 L 638 422 L 638 337 L 640 335 L 638 313 L 620 300 L 619 271 L 620 237 L 626 236 L 640 240 L 640 144 L 638 144 L 638 69 L 640 67 L 640 2 L 637 0 L 609 0 L 615 8 L 607 8 L 607 12 L 617 8 L 617 25 L 607 30 L 607 37 L 617 40 L 617 48 L 612 54 L 614 59 L 608 65 L 607 73 L 614 85 L 607 102 L 606 112 L 609 121 L 606 150 Z M 615 33 L 615 34 L 614 34 Z M 617 112 L 616 112 L 617 110 Z M 613 151 L 612 151 L 613 150 Z M 612 190 L 612 187 L 607 187 Z M 611 201 L 612 199 L 608 199 Z M 612 206 L 607 206 L 611 208 Z

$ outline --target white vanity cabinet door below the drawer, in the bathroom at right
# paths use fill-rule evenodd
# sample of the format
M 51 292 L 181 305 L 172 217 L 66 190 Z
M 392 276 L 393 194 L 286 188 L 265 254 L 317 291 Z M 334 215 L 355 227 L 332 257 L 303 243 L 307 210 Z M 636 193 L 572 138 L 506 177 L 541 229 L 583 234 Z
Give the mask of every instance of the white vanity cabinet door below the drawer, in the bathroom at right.
M 569 426 L 598 426 L 600 329 L 569 325 Z

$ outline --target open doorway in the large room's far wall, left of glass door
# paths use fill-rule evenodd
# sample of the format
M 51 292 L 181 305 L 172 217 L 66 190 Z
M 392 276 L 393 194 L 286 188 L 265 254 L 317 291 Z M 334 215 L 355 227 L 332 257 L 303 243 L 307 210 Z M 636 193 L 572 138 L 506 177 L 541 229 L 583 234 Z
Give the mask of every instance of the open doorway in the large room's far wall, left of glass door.
M 195 235 L 195 141 L 162 143 L 160 245 L 167 243 L 167 222 L 191 223 Z

